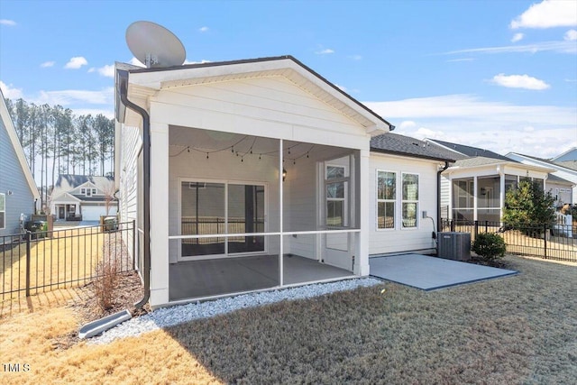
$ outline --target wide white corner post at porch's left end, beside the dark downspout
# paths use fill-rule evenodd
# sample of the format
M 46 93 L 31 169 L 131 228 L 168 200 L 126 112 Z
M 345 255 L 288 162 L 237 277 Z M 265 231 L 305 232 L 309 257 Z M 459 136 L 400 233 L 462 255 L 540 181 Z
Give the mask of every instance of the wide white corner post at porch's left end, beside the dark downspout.
M 151 105 L 151 306 L 169 303 L 169 124 Z

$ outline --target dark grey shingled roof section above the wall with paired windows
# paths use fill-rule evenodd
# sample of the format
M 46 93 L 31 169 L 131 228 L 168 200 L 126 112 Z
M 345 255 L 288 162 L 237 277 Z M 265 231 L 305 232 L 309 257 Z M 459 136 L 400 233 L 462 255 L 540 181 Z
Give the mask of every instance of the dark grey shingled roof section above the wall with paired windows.
M 371 151 L 441 161 L 455 161 L 455 153 L 398 133 L 371 138 Z

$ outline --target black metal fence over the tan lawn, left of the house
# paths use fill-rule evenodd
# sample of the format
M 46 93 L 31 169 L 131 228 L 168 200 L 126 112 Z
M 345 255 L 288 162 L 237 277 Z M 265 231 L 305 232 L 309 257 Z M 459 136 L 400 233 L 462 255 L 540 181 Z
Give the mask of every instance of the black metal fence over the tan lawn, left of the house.
M 0 236 L 1 298 L 86 284 L 103 261 L 134 270 L 134 229 L 127 222 Z

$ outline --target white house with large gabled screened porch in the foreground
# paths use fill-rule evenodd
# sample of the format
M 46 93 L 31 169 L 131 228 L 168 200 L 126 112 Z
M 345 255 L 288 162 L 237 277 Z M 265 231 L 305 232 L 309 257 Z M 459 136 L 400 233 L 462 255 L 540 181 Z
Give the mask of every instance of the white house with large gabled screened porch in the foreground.
M 389 133 L 290 56 L 116 63 L 115 110 L 119 213 L 136 220 L 152 307 L 366 276 L 370 254 L 435 249 L 437 171 L 453 158 Z

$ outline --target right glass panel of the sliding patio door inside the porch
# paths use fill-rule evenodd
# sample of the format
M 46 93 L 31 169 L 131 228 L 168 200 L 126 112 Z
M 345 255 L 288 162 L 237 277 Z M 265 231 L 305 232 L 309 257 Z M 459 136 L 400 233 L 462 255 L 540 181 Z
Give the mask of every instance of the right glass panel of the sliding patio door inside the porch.
M 228 233 L 264 233 L 264 187 L 228 185 Z M 264 236 L 228 239 L 228 252 L 263 252 Z

